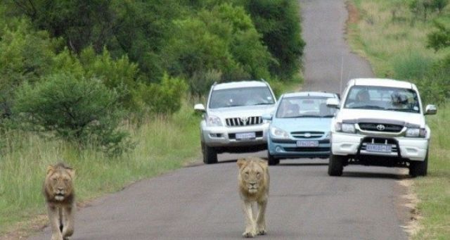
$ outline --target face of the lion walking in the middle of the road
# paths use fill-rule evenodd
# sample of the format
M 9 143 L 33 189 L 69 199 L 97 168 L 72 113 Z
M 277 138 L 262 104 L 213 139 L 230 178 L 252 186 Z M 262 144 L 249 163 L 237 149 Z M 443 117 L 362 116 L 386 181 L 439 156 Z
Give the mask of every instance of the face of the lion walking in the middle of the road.
M 259 158 L 239 159 L 240 184 L 249 194 L 257 194 L 265 187 L 267 162 Z

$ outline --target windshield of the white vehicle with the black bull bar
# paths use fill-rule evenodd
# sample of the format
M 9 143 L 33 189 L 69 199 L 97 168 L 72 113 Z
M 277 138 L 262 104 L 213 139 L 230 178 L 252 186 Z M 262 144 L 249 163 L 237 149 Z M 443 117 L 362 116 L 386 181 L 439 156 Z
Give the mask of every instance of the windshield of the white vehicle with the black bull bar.
M 416 91 L 397 87 L 354 86 L 344 108 L 395 110 L 420 113 Z

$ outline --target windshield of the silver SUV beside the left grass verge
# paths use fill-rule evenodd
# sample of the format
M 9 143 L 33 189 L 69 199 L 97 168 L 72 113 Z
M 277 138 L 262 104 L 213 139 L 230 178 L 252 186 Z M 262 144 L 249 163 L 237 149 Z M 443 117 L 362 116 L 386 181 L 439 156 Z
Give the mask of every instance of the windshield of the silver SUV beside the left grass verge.
M 274 97 L 268 87 L 242 87 L 212 91 L 210 108 L 228 108 L 274 103 Z

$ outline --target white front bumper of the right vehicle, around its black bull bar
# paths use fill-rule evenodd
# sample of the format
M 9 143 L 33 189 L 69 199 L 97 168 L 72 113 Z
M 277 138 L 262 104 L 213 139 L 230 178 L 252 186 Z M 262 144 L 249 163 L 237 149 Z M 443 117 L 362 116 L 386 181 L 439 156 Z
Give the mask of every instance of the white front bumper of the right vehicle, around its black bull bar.
M 376 153 L 361 150 L 361 140 L 370 138 L 370 136 L 361 134 L 347 134 L 342 132 L 333 132 L 331 134 L 331 151 L 333 155 L 340 156 L 386 156 L 400 157 L 409 160 L 423 161 L 427 155 L 428 139 L 413 137 L 386 137 L 386 139 L 394 139 L 398 143 L 399 152 Z M 380 138 L 377 136 L 376 138 Z

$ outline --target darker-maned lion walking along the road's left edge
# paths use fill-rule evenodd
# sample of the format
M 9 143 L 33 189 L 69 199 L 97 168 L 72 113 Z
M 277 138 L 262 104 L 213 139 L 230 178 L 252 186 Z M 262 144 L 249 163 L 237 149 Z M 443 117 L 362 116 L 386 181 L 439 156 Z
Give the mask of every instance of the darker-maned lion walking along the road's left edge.
M 51 240 L 63 240 L 74 230 L 75 170 L 63 163 L 50 165 L 44 181 L 44 196 L 49 214 Z

